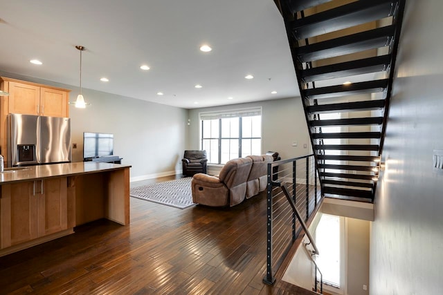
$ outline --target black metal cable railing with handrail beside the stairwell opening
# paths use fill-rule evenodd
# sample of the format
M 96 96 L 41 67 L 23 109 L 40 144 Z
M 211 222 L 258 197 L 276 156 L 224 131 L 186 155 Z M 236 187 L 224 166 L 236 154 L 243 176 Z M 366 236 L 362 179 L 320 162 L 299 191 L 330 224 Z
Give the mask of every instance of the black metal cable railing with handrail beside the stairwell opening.
M 264 283 L 275 281 L 275 272 L 300 232 L 303 230 L 309 235 L 307 229 L 303 229 L 304 223 L 315 212 L 321 198 L 314 154 L 268 164 Z

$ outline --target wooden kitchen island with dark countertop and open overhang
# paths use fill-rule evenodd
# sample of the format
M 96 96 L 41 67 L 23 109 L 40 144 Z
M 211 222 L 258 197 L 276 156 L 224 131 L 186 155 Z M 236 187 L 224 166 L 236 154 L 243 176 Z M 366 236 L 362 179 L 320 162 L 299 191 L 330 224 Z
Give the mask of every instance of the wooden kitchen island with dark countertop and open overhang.
M 0 173 L 0 256 L 100 218 L 129 225 L 130 167 L 75 162 Z

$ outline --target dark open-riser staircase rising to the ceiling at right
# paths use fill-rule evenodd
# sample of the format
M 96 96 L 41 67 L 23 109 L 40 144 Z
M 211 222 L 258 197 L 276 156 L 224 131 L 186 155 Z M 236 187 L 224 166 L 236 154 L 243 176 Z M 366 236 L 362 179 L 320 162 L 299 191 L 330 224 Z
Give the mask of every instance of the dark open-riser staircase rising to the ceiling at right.
M 325 196 L 374 201 L 405 0 L 275 0 Z

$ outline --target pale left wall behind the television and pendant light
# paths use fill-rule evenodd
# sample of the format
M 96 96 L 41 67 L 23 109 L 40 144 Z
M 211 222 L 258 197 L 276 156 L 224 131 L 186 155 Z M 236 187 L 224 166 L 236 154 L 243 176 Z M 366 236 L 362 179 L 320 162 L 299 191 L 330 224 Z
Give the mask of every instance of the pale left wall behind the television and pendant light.
M 77 86 L 0 73 L 5 77 L 72 89 L 70 100 L 78 95 Z M 83 132 L 114 133 L 114 155 L 122 164 L 132 165 L 131 179 L 142 180 L 181 172 L 181 158 L 187 146 L 188 110 L 145 102 L 100 91 L 82 89 L 85 109 L 70 106 L 73 162 L 83 160 Z

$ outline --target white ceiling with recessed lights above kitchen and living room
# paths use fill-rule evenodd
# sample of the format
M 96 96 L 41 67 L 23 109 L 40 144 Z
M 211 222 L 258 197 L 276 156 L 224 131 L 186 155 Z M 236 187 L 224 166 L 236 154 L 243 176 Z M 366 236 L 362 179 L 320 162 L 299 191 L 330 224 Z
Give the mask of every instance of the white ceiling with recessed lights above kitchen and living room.
M 272 0 L 0 0 L 0 19 L 0 70 L 73 85 L 71 100 L 75 45 L 83 88 L 181 108 L 299 95 Z

